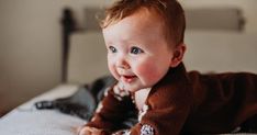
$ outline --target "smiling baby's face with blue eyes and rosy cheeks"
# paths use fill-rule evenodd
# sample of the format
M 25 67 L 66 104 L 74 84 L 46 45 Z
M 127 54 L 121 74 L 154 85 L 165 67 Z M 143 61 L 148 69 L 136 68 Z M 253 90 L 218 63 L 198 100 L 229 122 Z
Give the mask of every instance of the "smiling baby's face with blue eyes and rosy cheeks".
M 153 87 L 168 71 L 172 49 L 158 16 L 142 10 L 103 29 L 111 74 L 135 92 Z

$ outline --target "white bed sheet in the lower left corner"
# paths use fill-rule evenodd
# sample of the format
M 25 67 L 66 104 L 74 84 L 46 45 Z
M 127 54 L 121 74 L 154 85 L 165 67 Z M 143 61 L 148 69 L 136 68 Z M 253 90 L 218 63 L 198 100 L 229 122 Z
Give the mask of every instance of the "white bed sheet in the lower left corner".
M 76 127 L 86 121 L 55 110 L 36 110 L 41 100 L 54 100 L 72 94 L 76 85 L 62 85 L 32 99 L 0 119 L 0 135 L 76 135 Z

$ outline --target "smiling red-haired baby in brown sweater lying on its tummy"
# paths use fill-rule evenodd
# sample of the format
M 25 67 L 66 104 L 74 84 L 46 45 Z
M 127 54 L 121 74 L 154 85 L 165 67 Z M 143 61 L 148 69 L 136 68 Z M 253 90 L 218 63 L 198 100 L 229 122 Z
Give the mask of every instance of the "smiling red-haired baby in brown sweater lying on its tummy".
M 101 26 L 118 82 L 79 135 L 227 133 L 257 113 L 255 75 L 187 74 L 178 1 L 120 0 Z M 130 110 L 138 111 L 138 123 L 119 128 Z

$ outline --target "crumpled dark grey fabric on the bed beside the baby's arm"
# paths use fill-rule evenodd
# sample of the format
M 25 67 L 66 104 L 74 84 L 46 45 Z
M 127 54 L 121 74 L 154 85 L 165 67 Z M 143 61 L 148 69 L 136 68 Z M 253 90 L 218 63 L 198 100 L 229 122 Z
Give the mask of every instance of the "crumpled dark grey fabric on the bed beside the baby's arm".
M 80 87 L 76 93 L 68 98 L 56 99 L 54 101 L 40 101 L 35 103 L 38 110 L 58 110 L 65 114 L 75 115 L 89 121 L 93 115 L 97 104 L 102 100 L 108 87 L 115 83 L 111 76 L 97 79 L 91 85 Z M 137 114 L 134 111 L 124 114 L 126 121 L 121 124 L 121 128 L 133 126 L 137 123 Z

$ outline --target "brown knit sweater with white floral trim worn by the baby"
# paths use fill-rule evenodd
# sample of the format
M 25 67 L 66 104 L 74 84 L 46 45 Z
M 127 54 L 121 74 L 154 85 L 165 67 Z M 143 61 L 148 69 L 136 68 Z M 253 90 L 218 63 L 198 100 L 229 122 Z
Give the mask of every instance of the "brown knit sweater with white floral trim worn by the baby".
M 126 119 L 124 113 L 133 109 L 135 104 L 130 95 L 109 89 L 87 126 L 112 133 Z M 180 64 L 152 88 L 138 112 L 138 123 L 123 133 L 227 133 L 257 114 L 257 76 L 247 72 L 187 74 Z

